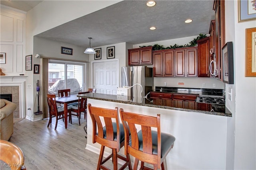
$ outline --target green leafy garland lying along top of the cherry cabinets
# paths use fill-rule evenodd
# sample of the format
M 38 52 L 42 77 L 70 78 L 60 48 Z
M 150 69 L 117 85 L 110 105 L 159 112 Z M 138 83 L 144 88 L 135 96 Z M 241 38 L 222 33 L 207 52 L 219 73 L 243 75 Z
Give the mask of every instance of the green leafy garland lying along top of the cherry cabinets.
M 155 44 L 155 45 L 148 45 L 148 46 L 139 46 L 140 48 L 142 47 L 150 47 L 152 46 L 152 51 L 156 51 L 156 50 L 165 50 L 165 49 L 178 49 L 178 48 L 183 48 L 183 47 L 194 47 L 196 46 L 197 42 L 199 39 L 203 39 L 207 37 L 206 34 L 199 34 L 198 37 L 194 38 L 192 41 L 190 41 L 188 44 L 185 44 L 185 45 L 177 45 L 177 44 L 174 44 L 174 45 L 170 45 L 170 47 L 164 47 L 163 45 L 158 45 L 158 44 Z

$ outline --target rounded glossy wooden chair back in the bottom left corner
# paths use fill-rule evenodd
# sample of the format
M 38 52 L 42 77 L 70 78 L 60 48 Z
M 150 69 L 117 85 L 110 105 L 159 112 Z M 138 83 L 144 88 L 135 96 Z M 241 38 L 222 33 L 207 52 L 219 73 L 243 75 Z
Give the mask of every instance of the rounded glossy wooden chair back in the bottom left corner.
M 0 155 L 1 165 L 3 165 L 3 161 L 10 166 L 11 170 L 26 170 L 24 166 L 24 154 L 17 145 L 0 140 Z M 3 168 L 3 166 L 1 166 L 1 168 Z

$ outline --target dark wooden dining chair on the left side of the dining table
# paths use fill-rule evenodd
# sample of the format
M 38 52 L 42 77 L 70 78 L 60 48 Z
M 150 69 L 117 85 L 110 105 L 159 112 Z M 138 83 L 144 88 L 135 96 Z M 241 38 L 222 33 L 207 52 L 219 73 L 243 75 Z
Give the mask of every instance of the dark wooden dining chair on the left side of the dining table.
M 50 116 L 47 127 L 49 127 L 50 123 L 52 123 L 52 117 L 56 116 L 56 123 L 55 123 L 54 130 L 56 130 L 57 128 L 58 119 L 64 119 L 64 105 L 57 107 L 55 98 L 56 98 L 55 94 L 47 94 L 47 103 L 49 107 L 49 116 Z M 72 106 L 68 106 L 69 122 L 72 124 L 71 109 L 72 109 Z

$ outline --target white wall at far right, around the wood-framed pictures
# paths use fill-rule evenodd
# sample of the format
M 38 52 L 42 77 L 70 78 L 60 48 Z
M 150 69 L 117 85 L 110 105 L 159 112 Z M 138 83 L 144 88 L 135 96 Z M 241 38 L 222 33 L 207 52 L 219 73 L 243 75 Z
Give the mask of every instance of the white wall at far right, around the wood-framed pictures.
M 226 6 L 226 8 L 228 8 Z M 256 77 L 245 77 L 245 29 L 256 22 L 238 23 L 238 3 L 234 1 L 235 53 L 235 155 L 234 169 L 256 169 Z M 232 10 L 231 10 L 232 11 Z M 227 26 L 226 30 L 232 29 Z

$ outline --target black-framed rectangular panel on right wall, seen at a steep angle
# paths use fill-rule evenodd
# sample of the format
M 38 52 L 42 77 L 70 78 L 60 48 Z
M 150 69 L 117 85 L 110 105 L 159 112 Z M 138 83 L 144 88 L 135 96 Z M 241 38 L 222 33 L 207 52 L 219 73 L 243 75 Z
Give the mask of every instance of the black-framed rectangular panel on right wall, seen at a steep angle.
M 223 82 L 234 84 L 234 63 L 233 63 L 233 43 L 227 42 L 222 47 L 222 73 Z

